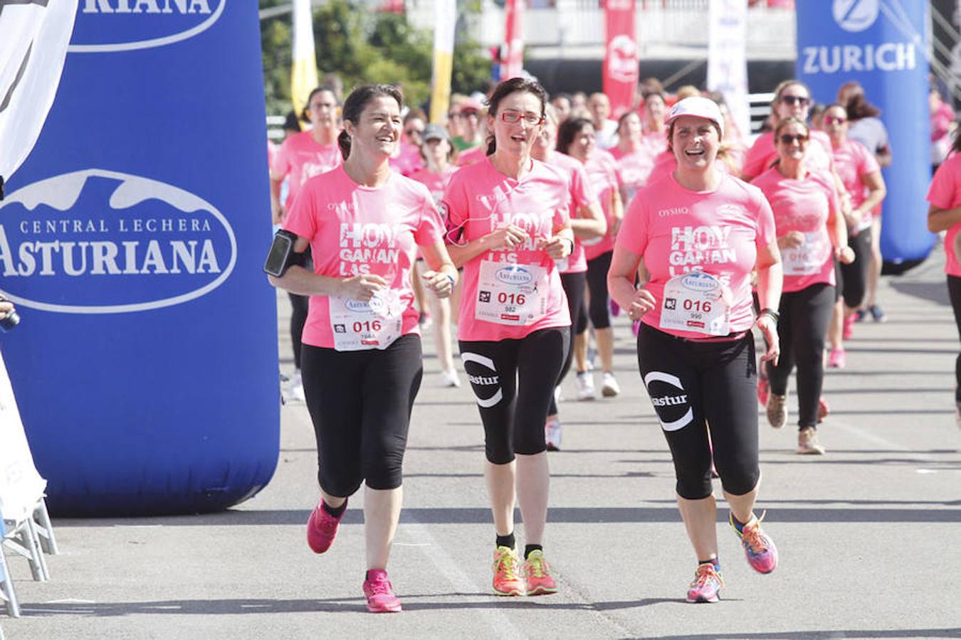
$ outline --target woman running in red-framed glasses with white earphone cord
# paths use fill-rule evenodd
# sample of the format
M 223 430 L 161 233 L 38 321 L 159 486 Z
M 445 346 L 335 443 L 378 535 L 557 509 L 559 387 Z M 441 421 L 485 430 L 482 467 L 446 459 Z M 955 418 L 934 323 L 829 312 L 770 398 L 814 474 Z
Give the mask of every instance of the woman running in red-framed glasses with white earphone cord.
M 533 81 L 498 84 L 487 114 L 487 155 L 457 171 L 441 208 L 464 268 L 457 334 L 484 429 L 484 478 L 496 541 L 494 593 L 554 593 L 544 558 L 548 470 L 544 424 L 570 345 L 571 315 L 557 261 L 574 249 L 569 178 L 530 151 L 547 93 Z M 514 497 L 524 517 L 523 573 Z

